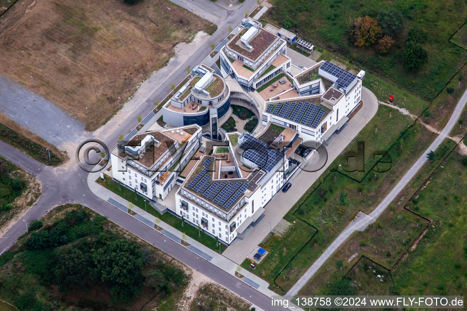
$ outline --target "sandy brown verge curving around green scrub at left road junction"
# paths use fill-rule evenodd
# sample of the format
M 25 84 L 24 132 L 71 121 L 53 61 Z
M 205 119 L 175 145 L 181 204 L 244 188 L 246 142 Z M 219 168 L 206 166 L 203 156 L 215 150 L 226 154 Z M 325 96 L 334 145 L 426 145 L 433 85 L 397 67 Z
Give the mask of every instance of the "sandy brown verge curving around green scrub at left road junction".
M 0 219 L 0 238 L 34 206 L 42 193 L 42 185 L 37 178 L 23 170 L 17 171 L 17 174 L 28 180 L 28 188 L 21 196 L 16 198 L 12 209 Z M 31 200 L 33 203 L 28 206 L 27 203 L 31 202 Z

